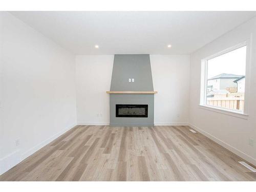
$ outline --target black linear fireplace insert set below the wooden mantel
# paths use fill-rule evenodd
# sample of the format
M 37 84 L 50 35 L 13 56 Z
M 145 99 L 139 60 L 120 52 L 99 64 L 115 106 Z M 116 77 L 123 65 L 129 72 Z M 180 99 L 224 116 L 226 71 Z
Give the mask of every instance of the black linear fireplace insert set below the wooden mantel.
M 116 104 L 116 117 L 147 117 L 147 104 Z

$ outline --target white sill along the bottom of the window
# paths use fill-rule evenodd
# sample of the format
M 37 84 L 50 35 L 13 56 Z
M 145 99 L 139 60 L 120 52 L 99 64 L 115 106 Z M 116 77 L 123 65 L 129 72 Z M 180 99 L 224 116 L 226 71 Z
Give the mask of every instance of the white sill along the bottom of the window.
M 248 114 L 244 114 L 243 112 L 237 112 L 237 111 L 232 111 L 232 110 L 228 110 L 228 109 L 221 109 L 221 108 L 216 108 L 214 106 L 208 106 L 208 105 L 199 105 L 200 109 L 203 110 L 208 110 L 208 111 L 213 111 L 216 113 L 222 113 L 225 115 L 230 115 L 233 117 L 238 117 L 238 118 L 242 118 L 242 119 L 248 119 Z

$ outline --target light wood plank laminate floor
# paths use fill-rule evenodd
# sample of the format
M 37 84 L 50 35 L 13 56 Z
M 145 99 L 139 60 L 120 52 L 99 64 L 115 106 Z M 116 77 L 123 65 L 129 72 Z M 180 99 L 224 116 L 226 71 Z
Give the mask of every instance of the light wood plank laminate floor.
M 1 181 L 255 181 L 244 161 L 188 126 L 78 125 Z

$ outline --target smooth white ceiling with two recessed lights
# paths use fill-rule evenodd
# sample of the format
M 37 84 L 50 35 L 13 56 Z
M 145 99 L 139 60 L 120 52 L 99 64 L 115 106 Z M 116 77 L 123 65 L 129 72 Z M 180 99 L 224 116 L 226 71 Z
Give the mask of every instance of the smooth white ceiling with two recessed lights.
M 76 55 L 189 54 L 256 16 L 255 11 L 11 13 Z

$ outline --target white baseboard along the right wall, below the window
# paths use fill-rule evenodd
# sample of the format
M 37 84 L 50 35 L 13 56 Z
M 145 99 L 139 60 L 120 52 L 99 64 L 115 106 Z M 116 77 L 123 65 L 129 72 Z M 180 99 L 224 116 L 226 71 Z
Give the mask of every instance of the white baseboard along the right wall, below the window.
M 254 159 L 253 157 L 245 154 L 244 152 L 241 152 L 240 150 L 238 150 L 237 148 L 225 143 L 224 141 L 216 138 L 215 136 L 203 131 L 202 129 L 200 129 L 199 127 L 188 123 L 188 126 L 190 126 L 191 128 L 195 129 L 196 131 L 198 131 L 199 133 L 205 135 L 206 137 L 210 138 L 211 140 L 215 141 L 216 143 L 220 144 L 221 146 L 227 148 L 227 150 L 229 150 L 230 152 L 244 158 L 246 161 L 248 161 L 249 163 L 253 164 L 256 166 L 256 159 Z

